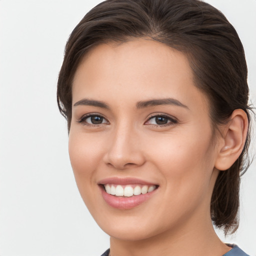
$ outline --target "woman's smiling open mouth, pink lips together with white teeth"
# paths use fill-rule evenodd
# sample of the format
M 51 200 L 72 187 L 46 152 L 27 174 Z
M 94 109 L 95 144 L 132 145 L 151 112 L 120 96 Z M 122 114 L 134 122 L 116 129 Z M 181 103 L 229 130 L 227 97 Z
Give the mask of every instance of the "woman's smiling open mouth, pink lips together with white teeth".
M 158 190 L 159 185 L 136 178 L 107 178 L 98 183 L 105 202 L 117 209 L 134 208 Z

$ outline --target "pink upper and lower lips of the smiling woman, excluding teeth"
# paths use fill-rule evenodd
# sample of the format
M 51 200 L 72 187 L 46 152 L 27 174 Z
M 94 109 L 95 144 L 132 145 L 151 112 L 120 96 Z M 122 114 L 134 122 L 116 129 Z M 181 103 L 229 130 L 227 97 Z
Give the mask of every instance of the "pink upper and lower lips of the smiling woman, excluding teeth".
M 133 195 L 130 197 L 123 197 L 123 196 L 108 194 L 105 191 L 103 186 L 103 184 L 107 184 L 107 183 L 120 184 L 120 185 L 129 185 L 129 184 L 157 185 L 157 184 L 152 182 L 147 182 L 145 180 L 141 180 L 138 178 L 130 178 L 130 177 L 127 177 L 127 178 L 110 177 L 110 178 L 105 178 L 100 180 L 98 182 L 98 185 L 100 187 L 101 195 L 105 200 L 105 202 L 113 208 L 123 209 L 123 210 L 134 208 L 142 204 L 143 202 L 147 201 L 150 197 L 152 197 L 155 194 L 158 188 L 158 185 L 157 185 L 157 188 L 151 192 L 147 192 L 145 194 Z

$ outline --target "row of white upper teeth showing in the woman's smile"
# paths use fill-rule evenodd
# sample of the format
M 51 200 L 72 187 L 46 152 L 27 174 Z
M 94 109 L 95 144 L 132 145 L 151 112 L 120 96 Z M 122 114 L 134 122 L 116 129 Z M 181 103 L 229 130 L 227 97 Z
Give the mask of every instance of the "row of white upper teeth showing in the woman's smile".
M 133 185 L 134 186 L 134 185 Z M 132 196 L 145 194 L 156 189 L 155 185 L 136 185 L 133 188 L 132 185 L 113 185 L 113 184 L 105 184 L 105 190 L 108 194 L 116 195 L 116 196 Z

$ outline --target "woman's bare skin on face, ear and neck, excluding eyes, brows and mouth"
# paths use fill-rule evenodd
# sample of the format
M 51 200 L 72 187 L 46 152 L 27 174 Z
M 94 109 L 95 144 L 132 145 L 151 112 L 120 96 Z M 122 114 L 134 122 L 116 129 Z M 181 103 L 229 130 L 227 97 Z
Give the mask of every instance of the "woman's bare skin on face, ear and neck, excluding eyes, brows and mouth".
M 108 108 L 76 103 L 84 98 Z M 166 98 L 183 106 L 136 107 Z M 207 97 L 195 87 L 181 52 L 148 39 L 100 44 L 76 70 L 72 103 L 71 165 L 86 206 L 110 235 L 111 256 L 220 256 L 230 249 L 214 232 L 209 205 L 216 167 L 231 165 L 242 149 L 246 117 L 242 110 L 234 113 L 213 142 Z M 90 113 L 102 116 L 102 123 L 90 124 L 90 117 L 79 122 Z M 157 125 L 155 114 L 170 119 Z M 108 177 L 159 186 L 140 205 L 117 209 L 103 200 L 98 185 Z

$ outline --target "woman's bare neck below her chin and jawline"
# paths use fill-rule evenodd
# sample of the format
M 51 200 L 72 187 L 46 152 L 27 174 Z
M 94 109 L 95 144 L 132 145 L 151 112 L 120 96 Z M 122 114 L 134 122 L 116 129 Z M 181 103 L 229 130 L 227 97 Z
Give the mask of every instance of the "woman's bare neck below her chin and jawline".
M 142 240 L 121 240 L 110 237 L 111 256 L 222 256 L 230 247 L 217 237 L 211 219 L 207 224 L 199 219 L 197 223 L 168 230 Z M 189 230 L 189 231 L 187 231 Z

